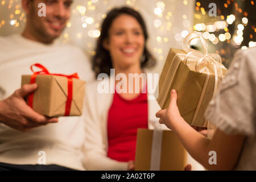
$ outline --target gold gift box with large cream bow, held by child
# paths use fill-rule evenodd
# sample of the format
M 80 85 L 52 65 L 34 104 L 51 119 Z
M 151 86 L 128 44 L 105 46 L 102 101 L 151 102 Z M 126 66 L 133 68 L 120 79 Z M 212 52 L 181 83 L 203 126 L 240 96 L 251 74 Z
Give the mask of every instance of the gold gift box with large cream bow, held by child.
M 204 52 L 190 48 L 190 42 L 199 39 Z M 162 109 L 170 103 L 171 89 L 177 91 L 177 106 L 181 116 L 191 126 L 207 127 L 204 111 L 224 78 L 226 68 L 221 57 L 208 53 L 208 44 L 199 32 L 188 34 L 183 50 L 171 48 L 159 78 L 156 100 Z

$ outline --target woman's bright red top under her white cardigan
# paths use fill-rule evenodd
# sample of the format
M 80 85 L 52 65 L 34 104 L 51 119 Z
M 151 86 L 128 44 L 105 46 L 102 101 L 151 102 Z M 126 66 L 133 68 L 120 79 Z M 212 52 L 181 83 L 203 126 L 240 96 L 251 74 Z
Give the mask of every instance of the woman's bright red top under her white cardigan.
M 108 157 L 120 162 L 135 160 L 137 130 L 147 128 L 147 93 L 125 100 L 114 93 L 108 115 Z

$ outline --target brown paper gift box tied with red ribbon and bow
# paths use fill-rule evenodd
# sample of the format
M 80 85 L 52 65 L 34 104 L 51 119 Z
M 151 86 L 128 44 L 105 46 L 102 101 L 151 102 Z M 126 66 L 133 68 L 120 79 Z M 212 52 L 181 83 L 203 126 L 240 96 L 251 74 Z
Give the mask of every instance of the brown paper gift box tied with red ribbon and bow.
M 35 72 L 33 67 L 42 69 Z M 62 75 L 49 73 L 41 64 L 31 65 L 33 75 L 22 75 L 22 85 L 38 84 L 27 97 L 27 104 L 37 113 L 48 117 L 82 115 L 85 81 L 77 73 Z

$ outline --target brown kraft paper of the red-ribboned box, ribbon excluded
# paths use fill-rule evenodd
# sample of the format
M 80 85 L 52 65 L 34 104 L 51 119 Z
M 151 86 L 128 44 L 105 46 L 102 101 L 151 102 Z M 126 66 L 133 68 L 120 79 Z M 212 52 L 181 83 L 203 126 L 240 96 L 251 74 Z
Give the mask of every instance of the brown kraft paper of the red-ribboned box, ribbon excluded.
M 31 75 L 22 75 L 22 85 L 30 84 Z M 85 81 L 72 78 L 72 102 L 69 115 L 82 115 Z M 65 76 L 37 75 L 38 88 L 34 92 L 33 109 L 48 117 L 60 117 L 65 114 L 68 79 Z

